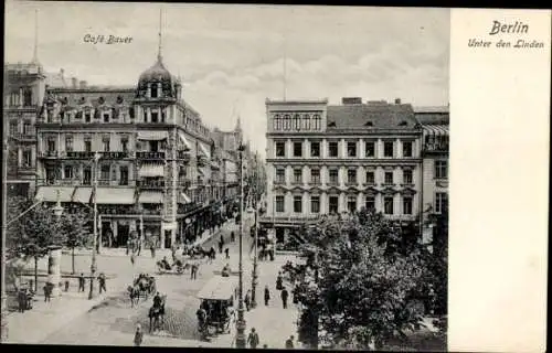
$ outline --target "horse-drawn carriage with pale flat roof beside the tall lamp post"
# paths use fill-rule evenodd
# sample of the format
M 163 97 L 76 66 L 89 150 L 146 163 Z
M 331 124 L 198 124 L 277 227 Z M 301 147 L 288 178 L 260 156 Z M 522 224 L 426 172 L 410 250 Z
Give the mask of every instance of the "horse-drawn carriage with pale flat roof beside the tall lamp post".
M 235 321 L 234 299 L 237 293 L 235 277 L 213 277 L 198 293 L 201 300 L 198 310 L 198 330 L 203 338 L 217 333 L 230 333 Z

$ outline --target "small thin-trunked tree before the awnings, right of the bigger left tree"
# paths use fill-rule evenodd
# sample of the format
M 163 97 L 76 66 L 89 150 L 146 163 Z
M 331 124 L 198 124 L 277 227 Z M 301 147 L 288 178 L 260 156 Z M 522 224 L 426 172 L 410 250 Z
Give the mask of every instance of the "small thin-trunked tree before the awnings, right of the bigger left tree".
M 75 248 L 87 246 L 91 242 L 87 212 L 63 214 L 61 232 L 65 235 L 65 246 L 71 249 L 71 269 L 75 274 Z

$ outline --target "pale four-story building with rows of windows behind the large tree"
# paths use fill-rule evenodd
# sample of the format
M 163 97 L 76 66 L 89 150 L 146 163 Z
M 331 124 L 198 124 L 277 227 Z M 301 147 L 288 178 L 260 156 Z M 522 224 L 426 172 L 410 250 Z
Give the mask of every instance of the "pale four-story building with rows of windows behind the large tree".
M 266 100 L 267 213 L 276 238 L 322 214 L 362 207 L 415 222 L 422 129 L 410 104 Z

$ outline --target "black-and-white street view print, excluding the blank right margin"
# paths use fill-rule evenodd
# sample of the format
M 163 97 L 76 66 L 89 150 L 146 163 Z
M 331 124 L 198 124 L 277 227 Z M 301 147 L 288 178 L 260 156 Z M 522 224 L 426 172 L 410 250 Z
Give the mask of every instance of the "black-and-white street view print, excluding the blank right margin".
M 449 9 L 4 19 L 2 343 L 447 351 Z

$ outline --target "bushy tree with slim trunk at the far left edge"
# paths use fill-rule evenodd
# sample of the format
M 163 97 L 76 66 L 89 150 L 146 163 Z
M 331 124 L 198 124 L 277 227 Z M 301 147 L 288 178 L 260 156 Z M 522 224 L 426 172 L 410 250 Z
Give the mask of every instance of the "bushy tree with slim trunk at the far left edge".
M 10 197 L 9 220 L 15 217 L 33 205 L 32 200 Z M 14 221 L 8 227 L 8 258 L 34 259 L 34 290 L 38 290 L 39 258 L 47 255 L 52 246 L 62 246 L 65 235 L 60 232 L 60 220 L 53 214 L 52 207 L 40 204 Z

